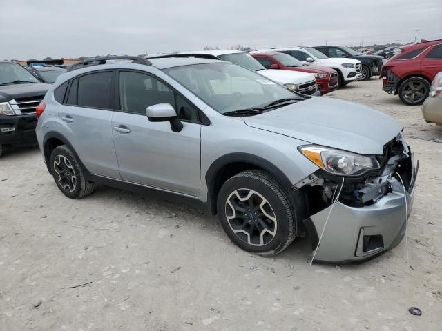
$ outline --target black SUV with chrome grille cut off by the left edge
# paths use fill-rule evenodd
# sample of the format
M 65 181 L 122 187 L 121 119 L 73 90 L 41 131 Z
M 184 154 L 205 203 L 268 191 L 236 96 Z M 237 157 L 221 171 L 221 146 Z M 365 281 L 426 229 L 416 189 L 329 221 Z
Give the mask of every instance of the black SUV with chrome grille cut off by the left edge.
M 0 61 L 0 156 L 4 146 L 37 143 L 35 108 L 50 85 L 17 63 Z

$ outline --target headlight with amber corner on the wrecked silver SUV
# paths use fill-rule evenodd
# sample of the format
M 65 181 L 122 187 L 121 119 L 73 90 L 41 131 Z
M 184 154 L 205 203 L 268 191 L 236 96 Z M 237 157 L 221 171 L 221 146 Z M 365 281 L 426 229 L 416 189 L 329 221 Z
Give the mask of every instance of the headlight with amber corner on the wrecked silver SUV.
M 301 146 L 299 151 L 318 167 L 338 176 L 359 176 L 380 168 L 374 156 L 359 155 L 323 146 Z

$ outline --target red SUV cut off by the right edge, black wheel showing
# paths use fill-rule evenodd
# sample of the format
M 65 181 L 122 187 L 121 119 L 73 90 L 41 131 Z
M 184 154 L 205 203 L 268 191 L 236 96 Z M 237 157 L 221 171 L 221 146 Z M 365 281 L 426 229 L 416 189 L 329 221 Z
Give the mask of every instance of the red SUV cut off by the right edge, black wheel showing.
M 406 105 L 419 105 L 430 93 L 430 83 L 442 71 L 442 39 L 401 47 L 382 67 L 383 90 L 398 94 Z

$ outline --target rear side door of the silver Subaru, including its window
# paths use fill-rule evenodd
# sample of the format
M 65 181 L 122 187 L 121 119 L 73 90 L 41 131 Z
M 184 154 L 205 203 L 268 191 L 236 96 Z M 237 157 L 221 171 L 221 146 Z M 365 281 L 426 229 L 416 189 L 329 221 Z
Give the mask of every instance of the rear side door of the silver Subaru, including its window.
M 113 70 L 99 70 L 70 80 L 59 112 L 60 133 L 92 174 L 119 179 L 113 147 Z

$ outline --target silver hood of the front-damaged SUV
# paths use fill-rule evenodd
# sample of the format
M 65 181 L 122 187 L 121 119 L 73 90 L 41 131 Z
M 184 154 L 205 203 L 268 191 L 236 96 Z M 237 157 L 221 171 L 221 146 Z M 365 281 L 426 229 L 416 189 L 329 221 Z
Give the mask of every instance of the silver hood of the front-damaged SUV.
M 383 145 L 403 128 L 367 106 L 319 97 L 242 119 L 252 128 L 358 154 L 383 154 Z

